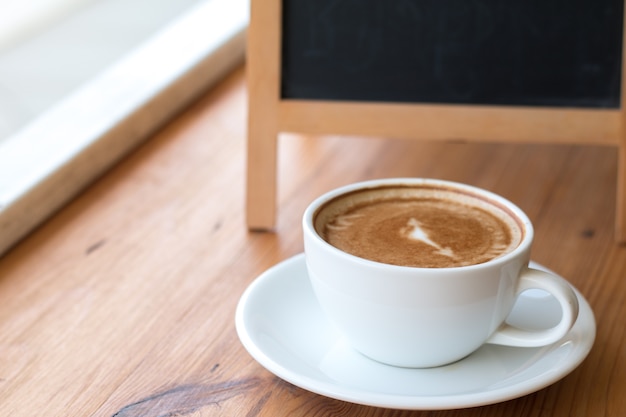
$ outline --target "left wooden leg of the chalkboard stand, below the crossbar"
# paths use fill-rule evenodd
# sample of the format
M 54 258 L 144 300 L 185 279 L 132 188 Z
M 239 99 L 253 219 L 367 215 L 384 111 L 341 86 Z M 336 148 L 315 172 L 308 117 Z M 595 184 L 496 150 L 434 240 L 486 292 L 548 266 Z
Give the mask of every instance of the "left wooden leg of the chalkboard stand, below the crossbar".
M 271 230 L 276 222 L 277 133 L 255 129 L 248 132 L 246 217 L 248 229 Z

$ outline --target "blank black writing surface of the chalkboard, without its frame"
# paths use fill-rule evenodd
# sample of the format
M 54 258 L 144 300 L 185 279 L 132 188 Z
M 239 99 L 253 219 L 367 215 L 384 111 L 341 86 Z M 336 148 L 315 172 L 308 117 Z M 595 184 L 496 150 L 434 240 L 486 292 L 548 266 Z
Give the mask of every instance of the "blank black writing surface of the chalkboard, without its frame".
M 283 0 L 284 99 L 619 108 L 621 0 Z

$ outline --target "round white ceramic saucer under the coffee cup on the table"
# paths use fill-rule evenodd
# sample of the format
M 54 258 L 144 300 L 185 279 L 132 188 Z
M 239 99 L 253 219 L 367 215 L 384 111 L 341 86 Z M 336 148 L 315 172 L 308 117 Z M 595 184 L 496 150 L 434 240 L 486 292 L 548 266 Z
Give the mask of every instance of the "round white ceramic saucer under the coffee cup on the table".
M 576 294 L 580 314 L 560 342 L 543 348 L 484 345 L 457 363 L 431 369 L 383 365 L 347 346 L 313 295 L 303 254 L 260 275 L 242 295 L 235 321 L 250 355 L 301 388 L 378 407 L 454 409 L 521 397 L 574 370 L 596 332 L 589 304 Z M 559 317 L 556 301 L 533 290 L 520 296 L 509 322 L 545 328 Z

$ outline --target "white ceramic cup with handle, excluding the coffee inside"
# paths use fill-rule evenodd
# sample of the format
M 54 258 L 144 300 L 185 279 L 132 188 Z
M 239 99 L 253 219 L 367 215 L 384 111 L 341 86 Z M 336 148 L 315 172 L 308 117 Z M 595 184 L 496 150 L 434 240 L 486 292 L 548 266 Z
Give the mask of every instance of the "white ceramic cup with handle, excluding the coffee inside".
M 483 263 L 426 268 L 351 255 L 315 229 L 315 218 L 329 201 L 390 185 L 444 187 L 504 208 L 522 228 L 520 243 Z M 528 267 L 533 227 L 526 214 L 489 191 L 432 179 L 366 181 L 317 198 L 306 209 L 302 224 L 308 275 L 322 309 L 352 347 L 376 361 L 434 367 L 458 361 L 484 343 L 549 345 L 565 336 L 578 316 L 578 300 L 567 283 Z M 559 302 L 562 317 L 555 327 L 524 330 L 505 322 L 527 289 L 545 290 Z

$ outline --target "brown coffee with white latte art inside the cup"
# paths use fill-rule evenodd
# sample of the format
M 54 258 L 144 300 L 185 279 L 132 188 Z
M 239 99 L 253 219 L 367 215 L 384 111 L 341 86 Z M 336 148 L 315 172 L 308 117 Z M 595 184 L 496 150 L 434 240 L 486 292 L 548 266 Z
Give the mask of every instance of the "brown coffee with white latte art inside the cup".
M 497 202 L 432 185 L 354 191 L 320 207 L 314 224 L 324 240 L 344 252 L 424 268 L 487 262 L 515 249 L 524 233 Z

